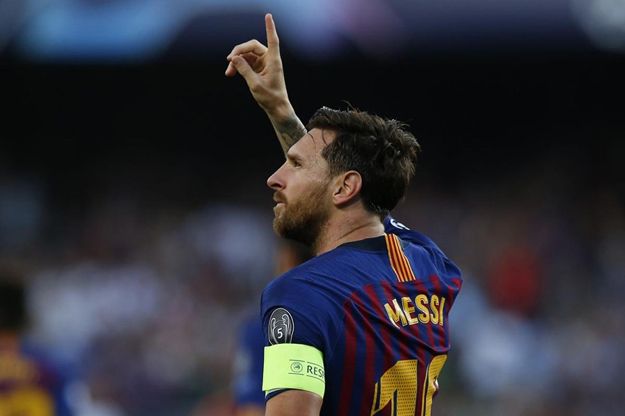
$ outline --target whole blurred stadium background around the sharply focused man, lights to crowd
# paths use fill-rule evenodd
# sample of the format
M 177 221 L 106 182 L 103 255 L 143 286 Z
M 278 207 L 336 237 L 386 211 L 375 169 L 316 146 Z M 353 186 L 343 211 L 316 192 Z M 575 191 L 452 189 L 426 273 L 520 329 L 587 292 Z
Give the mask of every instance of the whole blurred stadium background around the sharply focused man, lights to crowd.
M 435 413 L 625 415 L 625 1 L 2 0 L 0 263 L 76 415 L 229 415 L 282 163 L 235 44 L 290 98 L 405 121 L 394 216 L 465 283 Z

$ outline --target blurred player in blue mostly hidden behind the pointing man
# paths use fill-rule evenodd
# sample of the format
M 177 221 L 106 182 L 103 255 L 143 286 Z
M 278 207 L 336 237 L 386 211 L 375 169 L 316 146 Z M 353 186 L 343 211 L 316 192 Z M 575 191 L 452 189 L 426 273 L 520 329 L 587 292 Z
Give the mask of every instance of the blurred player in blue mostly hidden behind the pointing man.
M 276 274 L 282 275 L 312 257 L 303 244 L 282 240 L 275 257 Z M 263 393 L 263 348 L 265 334 L 258 311 L 242 325 L 239 333 L 233 374 L 233 401 L 235 416 L 265 415 Z

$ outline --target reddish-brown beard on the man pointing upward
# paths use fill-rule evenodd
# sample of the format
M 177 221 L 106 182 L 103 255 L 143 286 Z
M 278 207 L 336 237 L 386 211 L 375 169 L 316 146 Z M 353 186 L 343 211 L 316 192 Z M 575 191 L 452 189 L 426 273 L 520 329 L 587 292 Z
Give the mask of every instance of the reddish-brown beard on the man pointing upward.
M 315 251 L 319 236 L 330 216 L 325 203 L 327 184 L 283 205 L 276 211 L 274 231 L 283 239 L 298 241 Z

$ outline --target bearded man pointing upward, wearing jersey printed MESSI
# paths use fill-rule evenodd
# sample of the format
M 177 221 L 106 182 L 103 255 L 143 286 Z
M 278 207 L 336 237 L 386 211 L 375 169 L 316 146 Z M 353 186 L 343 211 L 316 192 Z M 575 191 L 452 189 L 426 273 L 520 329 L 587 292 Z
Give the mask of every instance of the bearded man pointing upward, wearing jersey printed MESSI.
M 406 126 L 322 108 L 308 130 L 290 105 L 278 35 L 228 55 L 265 110 L 286 162 L 267 184 L 274 229 L 317 257 L 263 292 L 266 414 L 431 415 L 460 270 L 390 218 L 419 144 Z

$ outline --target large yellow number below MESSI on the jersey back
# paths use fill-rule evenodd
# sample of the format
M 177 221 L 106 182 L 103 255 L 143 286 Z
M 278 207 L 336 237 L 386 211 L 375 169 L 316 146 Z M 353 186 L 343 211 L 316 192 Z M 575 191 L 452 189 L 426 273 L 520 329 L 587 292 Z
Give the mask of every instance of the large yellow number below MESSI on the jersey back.
M 446 355 L 435 356 L 428 366 L 427 386 L 421 402 L 420 415 L 431 416 L 432 398 L 437 390 L 437 378 L 447 360 Z M 390 367 L 374 386 L 374 402 L 371 415 L 375 415 L 389 403 L 391 415 L 412 416 L 417 409 L 417 360 L 401 360 Z M 377 405 L 377 406 L 376 406 Z

